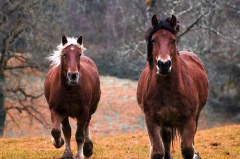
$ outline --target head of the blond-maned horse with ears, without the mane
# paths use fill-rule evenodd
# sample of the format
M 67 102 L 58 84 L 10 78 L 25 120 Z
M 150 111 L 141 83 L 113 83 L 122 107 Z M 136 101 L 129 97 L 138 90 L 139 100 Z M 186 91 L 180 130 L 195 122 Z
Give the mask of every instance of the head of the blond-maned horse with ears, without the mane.
M 77 45 L 69 44 L 68 39 L 62 37 L 62 45 L 68 45 L 62 50 L 61 63 L 63 74 L 67 77 L 69 85 L 75 85 L 79 82 L 80 57 L 82 55 L 82 36 L 77 39 Z

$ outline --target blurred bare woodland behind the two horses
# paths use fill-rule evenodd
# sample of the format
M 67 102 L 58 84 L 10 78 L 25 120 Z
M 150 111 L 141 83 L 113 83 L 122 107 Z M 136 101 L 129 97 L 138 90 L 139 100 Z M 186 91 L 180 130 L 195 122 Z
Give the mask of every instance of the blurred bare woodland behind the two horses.
M 137 81 L 146 64 L 144 34 L 154 14 L 174 14 L 181 24 L 178 50 L 203 61 L 210 83 L 208 113 L 239 123 L 239 0 L 1 0 L 0 136 L 21 113 L 47 125 L 41 111 L 46 106 L 38 101 L 43 83 L 36 77 L 44 79 L 46 57 L 63 35 L 83 36 L 85 55 L 100 75 Z

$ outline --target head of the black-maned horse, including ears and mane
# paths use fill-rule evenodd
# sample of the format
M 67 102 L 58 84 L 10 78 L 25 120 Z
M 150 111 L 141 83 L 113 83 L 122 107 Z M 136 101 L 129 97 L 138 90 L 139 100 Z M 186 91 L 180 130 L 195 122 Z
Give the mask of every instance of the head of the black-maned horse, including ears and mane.
M 177 56 L 176 34 L 179 25 L 174 15 L 165 20 L 152 17 L 152 27 L 147 31 L 148 62 L 156 67 L 157 74 L 166 76 L 171 73 L 173 58 Z

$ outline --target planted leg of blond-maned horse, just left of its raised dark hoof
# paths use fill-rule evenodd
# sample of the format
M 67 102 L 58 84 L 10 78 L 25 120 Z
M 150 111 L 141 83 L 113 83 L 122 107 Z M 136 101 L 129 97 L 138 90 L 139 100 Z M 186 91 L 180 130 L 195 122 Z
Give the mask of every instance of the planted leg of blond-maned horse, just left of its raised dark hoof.
M 77 131 L 76 131 L 77 153 L 76 153 L 75 159 L 84 159 L 83 144 L 84 144 L 85 127 L 88 121 L 88 116 L 89 116 L 88 111 L 85 110 L 80 115 L 81 118 L 77 119 Z

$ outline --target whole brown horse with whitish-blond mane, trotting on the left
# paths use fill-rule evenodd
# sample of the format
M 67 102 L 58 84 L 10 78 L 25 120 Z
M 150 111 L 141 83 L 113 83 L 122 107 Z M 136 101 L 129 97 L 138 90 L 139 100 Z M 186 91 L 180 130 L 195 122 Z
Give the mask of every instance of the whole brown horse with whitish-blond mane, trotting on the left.
M 60 148 L 64 144 L 61 138 L 61 123 L 65 138 L 62 158 L 73 157 L 68 117 L 76 118 L 75 158 L 83 159 L 93 153 L 89 122 L 100 99 L 99 75 L 94 62 L 82 55 L 84 47 L 81 36 L 78 39 L 63 36 L 57 49 L 49 57 L 52 64 L 44 83 L 44 94 L 51 111 L 53 145 Z

